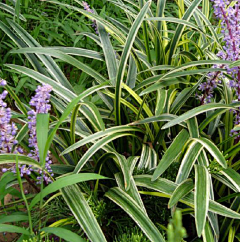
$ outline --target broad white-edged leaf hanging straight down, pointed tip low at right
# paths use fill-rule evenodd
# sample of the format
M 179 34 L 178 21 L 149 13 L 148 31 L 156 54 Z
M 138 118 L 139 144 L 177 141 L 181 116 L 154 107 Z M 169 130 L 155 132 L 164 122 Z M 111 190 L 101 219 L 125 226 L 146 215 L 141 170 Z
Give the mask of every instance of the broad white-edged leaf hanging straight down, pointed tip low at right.
M 209 207 L 210 182 L 206 167 L 195 165 L 194 212 L 198 237 L 205 227 Z

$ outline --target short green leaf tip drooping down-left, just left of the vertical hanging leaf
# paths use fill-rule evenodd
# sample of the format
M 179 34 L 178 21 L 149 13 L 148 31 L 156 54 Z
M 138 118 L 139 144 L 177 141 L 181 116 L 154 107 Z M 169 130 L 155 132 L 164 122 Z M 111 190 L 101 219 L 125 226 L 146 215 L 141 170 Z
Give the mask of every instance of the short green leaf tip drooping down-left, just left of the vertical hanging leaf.
M 180 183 L 176 190 L 173 192 L 169 202 L 168 202 L 168 207 L 172 208 L 174 205 L 177 204 L 177 202 L 187 195 L 189 192 L 193 190 L 193 182 L 192 179 L 187 179 Z

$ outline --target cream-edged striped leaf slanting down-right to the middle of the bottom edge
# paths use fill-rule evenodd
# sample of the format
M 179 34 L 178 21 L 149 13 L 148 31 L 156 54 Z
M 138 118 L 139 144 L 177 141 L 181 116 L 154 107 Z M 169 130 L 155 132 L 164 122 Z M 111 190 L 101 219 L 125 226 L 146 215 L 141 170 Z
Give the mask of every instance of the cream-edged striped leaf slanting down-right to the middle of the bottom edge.
M 106 197 L 119 205 L 139 226 L 151 241 L 165 242 L 156 226 L 143 212 L 141 207 L 133 200 L 126 192 L 120 188 L 111 188 L 106 194 Z

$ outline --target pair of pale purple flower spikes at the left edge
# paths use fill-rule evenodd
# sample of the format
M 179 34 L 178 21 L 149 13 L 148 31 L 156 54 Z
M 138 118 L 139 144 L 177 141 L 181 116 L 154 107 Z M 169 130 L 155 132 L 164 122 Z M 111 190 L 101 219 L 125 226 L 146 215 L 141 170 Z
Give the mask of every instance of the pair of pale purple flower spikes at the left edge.
M 6 81 L 0 79 L 0 86 L 5 86 Z M 36 133 L 36 118 L 38 113 L 48 113 L 51 109 L 51 105 L 49 104 L 50 92 L 52 87 L 50 85 L 38 86 L 36 89 L 36 95 L 32 97 L 30 101 L 30 105 L 34 107 L 34 109 L 28 112 L 28 128 L 29 128 L 29 147 L 31 148 L 31 152 L 28 154 L 29 157 L 35 159 L 39 162 L 39 150 L 37 146 L 37 133 Z M 3 91 L 0 95 L 0 132 L 1 132 L 1 140 L 0 140 L 0 153 L 10 153 L 12 151 L 13 145 L 17 144 L 17 140 L 15 136 L 17 134 L 17 127 L 14 123 L 10 124 L 11 119 L 11 109 L 7 108 L 7 104 L 3 101 L 3 99 L 7 96 L 7 91 Z M 17 147 L 16 152 L 23 153 L 21 147 Z M 53 176 L 51 169 L 51 159 L 49 154 L 46 158 L 45 168 L 46 171 Z M 33 171 L 31 166 L 19 165 L 20 174 L 23 176 L 24 174 L 30 175 Z M 11 167 L 9 169 L 3 168 L 2 171 L 12 171 L 16 173 L 16 167 Z M 35 170 L 36 171 L 36 170 Z M 41 170 L 36 171 L 39 174 L 42 174 Z M 48 184 L 51 182 L 51 178 L 44 171 L 43 174 L 44 181 Z M 38 182 L 41 181 L 41 176 L 37 177 Z

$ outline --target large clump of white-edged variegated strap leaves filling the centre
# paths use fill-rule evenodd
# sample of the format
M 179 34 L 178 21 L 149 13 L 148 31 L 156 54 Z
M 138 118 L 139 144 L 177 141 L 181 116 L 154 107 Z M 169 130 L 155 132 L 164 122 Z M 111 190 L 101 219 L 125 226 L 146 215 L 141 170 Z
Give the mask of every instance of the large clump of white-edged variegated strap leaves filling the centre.
M 47 203 L 62 196 L 86 237 L 107 241 L 77 185 L 95 179 L 91 183 L 94 196 L 104 194 L 120 206 L 150 241 L 165 238 L 148 216 L 146 195 L 167 197 L 172 212 L 181 209 L 191 214 L 203 241 L 225 241 L 227 236 L 233 241 L 238 228 L 235 221 L 240 219 L 240 175 L 239 143 L 234 144 L 230 131 L 240 103 L 232 102 L 236 93 L 228 85 L 231 77 L 224 67 L 238 62 L 217 55 L 224 51 L 224 40 L 217 19 L 211 18 L 210 1 L 109 3 L 122 9 L 125 21 L 98 15 L 85 2 L 76 2 L 51 3 L 97 24 L 97 33 L 85 35 L 96 42 L 98 52 L 42 47 L 16 22 L 0 22 L 18 47 L 12 54 L 24 54 L 32 68 L 5 66 L 51 85 L 54 93 L 55 115 L 38 116 L 38 149 L 42 169 L 50 149 L 61 163 L 52 166 L 53 172 L 60 175 L 46 188 L 42 183 L 29 211 L 40 202 L 41 212 L 49 194 Z M 239 8 L 236 3 L 226 1 L 224 11 Z M 102 61 L 106 71 L 85 64 L 79 58 L 83 56 Z M 54 58 L 85 72 L 91 87 L 77 95 Z M 211 96 L 214 100 L 202 105 L 199 87 L 208 73 L 218 72 L 223 73 L 222 82 Z M 26 115 L 26 107 L 10 94 L 19 112 Z M 96 104 L 93 97 L 102 101 Z M 30 164 L 25 156 L 0 155 L 1 162 L 14 163 L 16 158 Z M 173 165 L 178 166 L 174 179 L 166 179 Z M 64 230 L 62 224 L 58 221 L 51 227 Z

